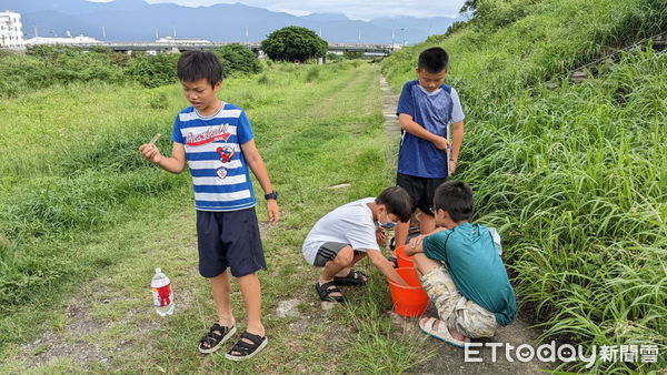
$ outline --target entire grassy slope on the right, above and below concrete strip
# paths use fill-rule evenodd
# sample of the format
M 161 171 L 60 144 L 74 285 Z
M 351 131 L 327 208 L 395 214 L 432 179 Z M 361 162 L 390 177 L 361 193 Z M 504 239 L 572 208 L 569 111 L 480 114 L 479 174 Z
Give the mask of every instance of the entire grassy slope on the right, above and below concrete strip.
M 544 322 L 542 338 L 664 352 L 667 55 L 625 55 L 580 85 L 559 77 L 665 30 L 667 3 L 469 2 L 477 18 L 457 32 L 386 60 L 390 83 L 414 79 L 421 50 L 449 52 L 447 80 L 468 123 L 457 174 L 476 192 L 478 219 L 500 229 L 522 310 Z M 510 3 L 519 11 L 506 11 Z M 544 89 L 551 79 L 557 89 Z M 665 365 L 665 356 L 598 361 L 593 371 Z

